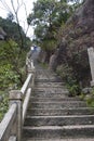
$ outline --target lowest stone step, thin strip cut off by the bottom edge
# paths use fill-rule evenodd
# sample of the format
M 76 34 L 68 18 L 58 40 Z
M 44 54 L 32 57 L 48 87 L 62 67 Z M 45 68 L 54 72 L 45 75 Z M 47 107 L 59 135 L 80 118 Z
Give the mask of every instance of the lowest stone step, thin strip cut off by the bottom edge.
M 94 141 L 94 138 L 79 138 L 79 139 L 23 139 L 23 141 Z

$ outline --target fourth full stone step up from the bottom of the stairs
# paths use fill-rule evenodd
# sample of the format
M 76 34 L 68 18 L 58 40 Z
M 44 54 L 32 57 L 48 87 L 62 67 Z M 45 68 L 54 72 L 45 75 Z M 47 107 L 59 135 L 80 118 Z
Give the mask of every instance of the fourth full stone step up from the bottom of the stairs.
M 59 102 L 31 102 L 29 107 L 38 107 L 38 108 L 69 108 L 69 107 L 85 107 L 86 103 L 83 101 L 64 101 Z

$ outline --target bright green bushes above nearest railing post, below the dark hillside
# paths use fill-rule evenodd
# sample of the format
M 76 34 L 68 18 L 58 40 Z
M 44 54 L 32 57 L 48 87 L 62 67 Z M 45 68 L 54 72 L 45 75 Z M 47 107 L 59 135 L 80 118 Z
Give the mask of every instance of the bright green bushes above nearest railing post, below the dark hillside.
M 25 78 L 26 50 L 18 48 L 13 40 L 0 41 L 0 88 L 23 84 Z M 24 70 L 23 70 L 24 69 Z

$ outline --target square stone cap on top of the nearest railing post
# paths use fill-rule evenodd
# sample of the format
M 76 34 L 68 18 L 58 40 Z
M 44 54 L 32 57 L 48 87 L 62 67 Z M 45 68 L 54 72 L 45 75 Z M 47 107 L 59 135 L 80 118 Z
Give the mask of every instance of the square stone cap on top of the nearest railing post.
M 9 99 L 10 100 L 22 100 L 23 93 L 21 92 L 21 90 L 11 90 Z

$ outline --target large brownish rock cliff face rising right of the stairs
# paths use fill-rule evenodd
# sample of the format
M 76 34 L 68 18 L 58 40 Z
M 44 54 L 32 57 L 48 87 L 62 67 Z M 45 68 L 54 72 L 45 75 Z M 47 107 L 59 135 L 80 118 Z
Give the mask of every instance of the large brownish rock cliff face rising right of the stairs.
M 57 64 L 72 66 L 79 81 L 91 79 L 88 48 L 94 47 L 94 0 L 86 0 L 62 29 Z

